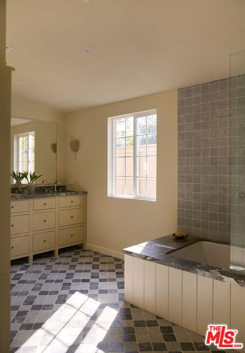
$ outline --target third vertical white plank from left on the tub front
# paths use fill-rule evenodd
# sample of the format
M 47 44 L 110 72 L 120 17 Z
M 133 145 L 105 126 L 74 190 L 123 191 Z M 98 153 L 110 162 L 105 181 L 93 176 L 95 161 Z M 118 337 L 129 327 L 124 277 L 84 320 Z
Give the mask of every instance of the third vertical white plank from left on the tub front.
M 145 261 L 144 264 L 144 309 L 156 312 L 156 264 Z

